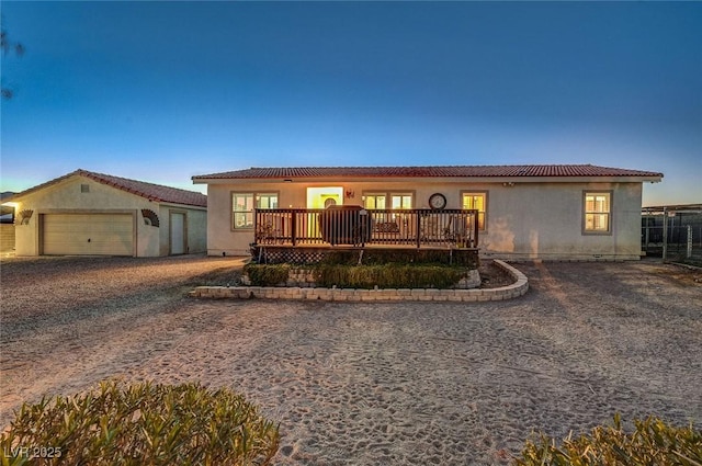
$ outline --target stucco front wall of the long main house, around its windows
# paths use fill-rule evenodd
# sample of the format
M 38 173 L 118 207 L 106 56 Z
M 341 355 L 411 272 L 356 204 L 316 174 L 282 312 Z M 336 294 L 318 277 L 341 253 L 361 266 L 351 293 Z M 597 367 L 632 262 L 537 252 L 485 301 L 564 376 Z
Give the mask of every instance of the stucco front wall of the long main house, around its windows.
M 505 259 L 637 259 L 641 252 L 642 184 L 633 183 L 456 183 L 322 182 L 210 184 L 207 252 L 248 255 L 252 230 L 231 228 L 231 192 L 279 192 L 281 207 L 306 207 L 306 189 L 343 186 L 353 192 L 344 204 L 362 204 L 364 192 L 411 192 L 415 207 L 427 208 L 432 193 L 446 196 L 448 208 L 460 208 L 462 192 L 487 192 L 487 229 L 480 231 L 484 255 Z M 612 191 L 609 235 L 582 232 L 584 191 Z

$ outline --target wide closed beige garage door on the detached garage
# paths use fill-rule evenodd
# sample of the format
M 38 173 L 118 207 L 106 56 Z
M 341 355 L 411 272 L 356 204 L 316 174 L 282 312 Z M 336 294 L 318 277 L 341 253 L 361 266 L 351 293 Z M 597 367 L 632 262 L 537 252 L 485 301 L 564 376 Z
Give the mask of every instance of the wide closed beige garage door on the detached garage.
M 47 255 L 134 255 L 129 214 L 45 214 L 43 253 Z

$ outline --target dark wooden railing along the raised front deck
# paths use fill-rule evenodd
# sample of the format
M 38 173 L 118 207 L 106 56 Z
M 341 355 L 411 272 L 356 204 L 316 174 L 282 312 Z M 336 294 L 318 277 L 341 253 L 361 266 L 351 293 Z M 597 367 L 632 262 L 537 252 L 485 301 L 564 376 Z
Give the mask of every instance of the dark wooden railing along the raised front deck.
M 472 209 L 269 208 L 257 209 L 253 217 L 256 245 L 478 245 L 478 213 Z

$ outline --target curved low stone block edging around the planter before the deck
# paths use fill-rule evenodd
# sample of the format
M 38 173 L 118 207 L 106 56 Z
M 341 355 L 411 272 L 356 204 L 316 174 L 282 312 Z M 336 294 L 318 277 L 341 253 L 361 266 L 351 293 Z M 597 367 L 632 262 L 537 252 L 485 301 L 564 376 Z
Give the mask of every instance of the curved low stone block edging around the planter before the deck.
M 505 300 L 522 296 L 529 289 L 526 275 L 495 259 L 495 264 L 505 270 L 514 283 L 499 288 L 435 289 L 435 288 L 304 288 L 279 286 L 197 286 L 189 293 L 191 297 L 210 299 L 303 299 L 331 302 L 488 302 Z

